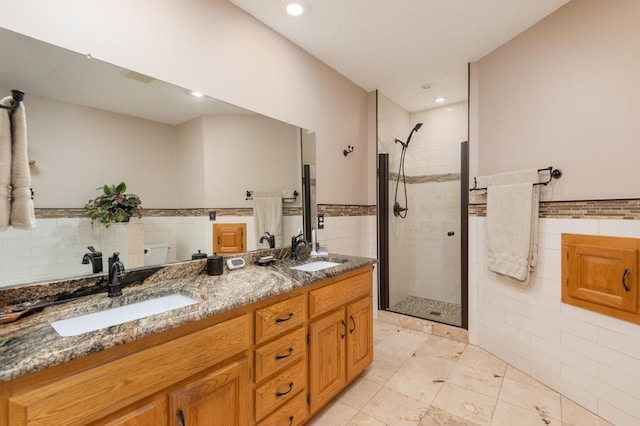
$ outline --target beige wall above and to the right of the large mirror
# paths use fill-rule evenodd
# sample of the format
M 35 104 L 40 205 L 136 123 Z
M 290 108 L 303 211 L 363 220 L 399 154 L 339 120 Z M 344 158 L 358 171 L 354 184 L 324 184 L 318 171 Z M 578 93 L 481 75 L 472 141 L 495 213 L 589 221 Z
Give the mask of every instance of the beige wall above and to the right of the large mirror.
M 0 0 L 0 26 L 317 132 L 318 202 L 373 204 L 367 93 L 225 0 Z M 347 145 L 356 153 L 342 156 Z

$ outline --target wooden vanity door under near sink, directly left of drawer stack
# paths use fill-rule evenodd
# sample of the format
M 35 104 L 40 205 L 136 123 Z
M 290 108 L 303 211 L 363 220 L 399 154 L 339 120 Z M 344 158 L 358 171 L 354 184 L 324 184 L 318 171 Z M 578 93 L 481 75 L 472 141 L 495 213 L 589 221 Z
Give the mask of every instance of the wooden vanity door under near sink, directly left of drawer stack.
M 234 362 L 169 394 L 171 426 L 251 423 L 249 362 Z

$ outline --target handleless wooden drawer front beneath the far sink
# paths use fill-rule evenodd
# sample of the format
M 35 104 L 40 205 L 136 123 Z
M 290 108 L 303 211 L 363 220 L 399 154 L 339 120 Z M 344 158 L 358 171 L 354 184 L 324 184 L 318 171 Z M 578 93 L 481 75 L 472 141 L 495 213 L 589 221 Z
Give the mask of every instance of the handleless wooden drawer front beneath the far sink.
M 371 292 L 371 272 L 347 278 L 309 293 L 309 316 L 315 318 Z

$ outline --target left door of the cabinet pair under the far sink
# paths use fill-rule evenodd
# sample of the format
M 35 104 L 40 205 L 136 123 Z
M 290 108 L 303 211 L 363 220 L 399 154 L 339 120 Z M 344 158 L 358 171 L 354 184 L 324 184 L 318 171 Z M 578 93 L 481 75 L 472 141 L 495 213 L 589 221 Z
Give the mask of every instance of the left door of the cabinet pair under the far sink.
M 347 324 L 344 309 L 309 325 L 309 391 L 314 413 L 345 386 Z

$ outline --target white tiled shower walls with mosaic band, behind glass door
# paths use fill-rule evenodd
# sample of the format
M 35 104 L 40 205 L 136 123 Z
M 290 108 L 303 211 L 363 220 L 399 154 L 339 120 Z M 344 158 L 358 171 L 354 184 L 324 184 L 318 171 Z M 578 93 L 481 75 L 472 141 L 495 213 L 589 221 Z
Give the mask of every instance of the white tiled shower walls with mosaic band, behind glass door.
M 467 104 L 409 114 L 378 95 L 378 152 L 389 153 L 391 207 L 401 148 L 395 139 L 406 141 L 419 122 L 405 157 L 409 214 L 389 216 L 391 306 L 409 295 L 451 303 L 461 297 L 460 143 L 467 139 Z M 398 197 L 404 205 L 402 184 Z

